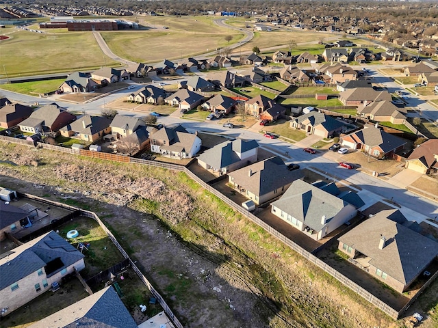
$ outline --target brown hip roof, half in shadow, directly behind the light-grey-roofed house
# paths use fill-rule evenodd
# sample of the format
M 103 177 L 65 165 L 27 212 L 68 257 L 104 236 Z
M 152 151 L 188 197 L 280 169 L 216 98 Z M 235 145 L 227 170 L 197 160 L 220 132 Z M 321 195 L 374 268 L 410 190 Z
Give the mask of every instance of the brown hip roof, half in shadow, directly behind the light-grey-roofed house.
M 237 169 L 228 175 L 233 178 L 233 182 L 255 195 L 265 195 L 303 176 L 301 170 L 289 171 L 279 156 Z

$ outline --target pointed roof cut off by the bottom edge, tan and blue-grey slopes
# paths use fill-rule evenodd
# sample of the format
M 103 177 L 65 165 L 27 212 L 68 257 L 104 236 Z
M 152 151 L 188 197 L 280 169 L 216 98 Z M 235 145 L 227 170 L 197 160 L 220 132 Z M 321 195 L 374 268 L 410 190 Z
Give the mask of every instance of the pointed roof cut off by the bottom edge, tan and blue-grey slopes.
M 107 286 L 85 299 L 81 299 L 50 316 L 38 320 L 29 328 L 53 327 L 54 323 L 58 328 L 86 326 L 102 328 L 138 327 L 112 286 Z

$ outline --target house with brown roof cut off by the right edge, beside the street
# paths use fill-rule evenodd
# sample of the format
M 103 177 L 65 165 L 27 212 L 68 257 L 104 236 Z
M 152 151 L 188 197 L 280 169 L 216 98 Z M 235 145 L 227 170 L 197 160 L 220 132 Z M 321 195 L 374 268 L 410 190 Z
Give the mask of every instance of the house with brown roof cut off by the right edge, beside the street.
M 438 169 L 438 139 L 429 139 L 417 146 L 404 162 L 404 168 L 422 174 Z

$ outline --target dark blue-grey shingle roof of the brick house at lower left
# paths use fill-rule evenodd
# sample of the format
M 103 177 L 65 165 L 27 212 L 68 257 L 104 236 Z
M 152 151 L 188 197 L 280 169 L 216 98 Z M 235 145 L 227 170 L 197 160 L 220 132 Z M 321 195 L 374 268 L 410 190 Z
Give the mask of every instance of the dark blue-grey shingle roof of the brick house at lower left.
M 74 264 L 84 256 L 53 231 L 12 249 L 10 255 L 0 259 L 0 290 L 46 267 L 56 258 L 60 258 L 63 265 L 49 273 L 47 277 Z

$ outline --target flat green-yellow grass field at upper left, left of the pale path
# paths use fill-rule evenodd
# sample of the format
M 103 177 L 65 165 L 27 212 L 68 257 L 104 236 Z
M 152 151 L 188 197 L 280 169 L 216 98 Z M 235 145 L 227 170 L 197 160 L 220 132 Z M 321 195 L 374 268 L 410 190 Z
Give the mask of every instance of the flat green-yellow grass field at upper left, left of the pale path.
M 1 42 L 1 63 L 8 77 L 92 70 L 117 66 L 103 55 L 90 32 L 34 33 L 17 30 Z M 5 72 L 1 72 L 5 77 Z

